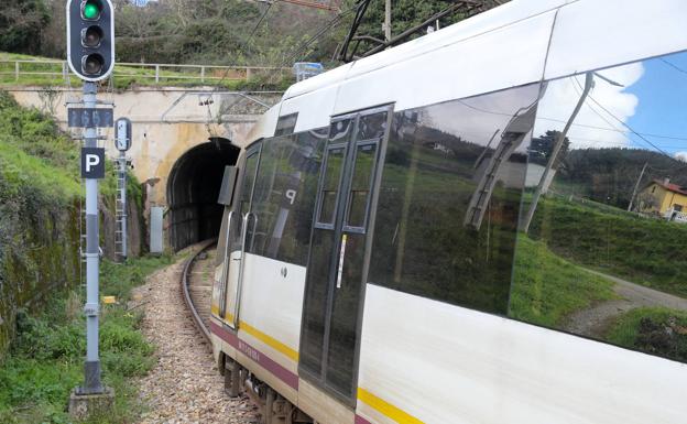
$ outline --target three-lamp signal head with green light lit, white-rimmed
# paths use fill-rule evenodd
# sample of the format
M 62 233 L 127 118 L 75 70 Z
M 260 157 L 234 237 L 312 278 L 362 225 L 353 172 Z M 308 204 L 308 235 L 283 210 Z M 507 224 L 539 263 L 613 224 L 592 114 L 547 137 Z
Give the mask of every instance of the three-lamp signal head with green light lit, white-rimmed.
M 67 1 L 67 62 L 85 81 L 106 79 L 115 67 L 111 0 Z

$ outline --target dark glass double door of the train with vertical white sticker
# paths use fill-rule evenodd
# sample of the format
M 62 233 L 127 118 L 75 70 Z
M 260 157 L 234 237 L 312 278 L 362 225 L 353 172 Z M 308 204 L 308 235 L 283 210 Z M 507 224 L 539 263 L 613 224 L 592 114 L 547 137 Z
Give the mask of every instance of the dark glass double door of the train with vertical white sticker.
M 332 119 L 314 216 L 299 370 L 349 405 L 356 399 L 373 194 L 390 123 L 391 107 Z

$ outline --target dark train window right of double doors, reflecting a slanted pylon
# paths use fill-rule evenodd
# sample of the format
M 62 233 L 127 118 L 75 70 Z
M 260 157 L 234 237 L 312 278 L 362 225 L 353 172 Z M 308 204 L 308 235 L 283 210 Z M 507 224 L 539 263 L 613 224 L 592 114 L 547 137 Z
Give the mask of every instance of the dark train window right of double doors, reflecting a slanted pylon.
M 539 85 L 394 115 L 369 282 L 505 314 Z

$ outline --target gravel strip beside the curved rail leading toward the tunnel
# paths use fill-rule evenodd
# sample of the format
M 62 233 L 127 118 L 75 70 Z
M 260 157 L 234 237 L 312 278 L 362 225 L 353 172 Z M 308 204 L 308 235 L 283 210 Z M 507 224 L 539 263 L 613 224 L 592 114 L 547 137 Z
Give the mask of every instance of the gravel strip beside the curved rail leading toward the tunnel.
M 157 271 L 134 298 L 145 308 L 142 331 L 157 347 L 157 365 L 141 380 L 149 406 L 141 423 L 255 423 L 247 398 L 223 392 L 223 377 L 194 326 L 179 289 L 183 261 Z

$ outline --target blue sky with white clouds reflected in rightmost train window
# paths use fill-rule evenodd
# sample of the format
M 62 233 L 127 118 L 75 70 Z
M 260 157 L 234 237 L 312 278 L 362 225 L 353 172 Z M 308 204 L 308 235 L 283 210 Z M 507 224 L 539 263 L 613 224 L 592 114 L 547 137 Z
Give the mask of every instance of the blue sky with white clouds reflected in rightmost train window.
M 687 53 L 601 69 L 596 74 L 595 86 L 568 132 L 571 149 L 661 149 L 687 159 Z M 539 102 L 535 135 L 547 129 L 563 129 L 565 122 L 560 121 L 570 117 L 584 84 L 584 75 L 548 84 Z

